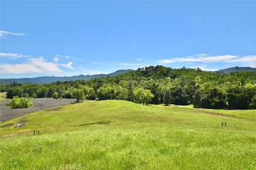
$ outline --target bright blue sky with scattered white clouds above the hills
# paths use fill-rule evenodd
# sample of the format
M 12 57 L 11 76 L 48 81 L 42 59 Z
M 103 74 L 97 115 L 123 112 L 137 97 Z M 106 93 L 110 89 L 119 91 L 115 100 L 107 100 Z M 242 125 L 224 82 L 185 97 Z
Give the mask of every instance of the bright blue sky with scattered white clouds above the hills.
M 1 1 L 1 78 L 256 67 L 253 1 Z

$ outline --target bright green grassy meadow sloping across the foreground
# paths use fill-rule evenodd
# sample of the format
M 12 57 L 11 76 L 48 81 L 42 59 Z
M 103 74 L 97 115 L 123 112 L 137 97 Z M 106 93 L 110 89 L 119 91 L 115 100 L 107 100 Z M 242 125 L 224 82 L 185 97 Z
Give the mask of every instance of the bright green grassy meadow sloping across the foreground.
M 55 107 L 0 124 L 0 169 L 256 169 L 255 115 L 122 100 Z

